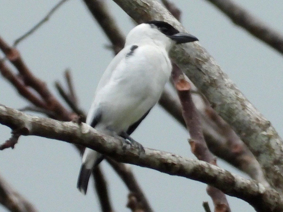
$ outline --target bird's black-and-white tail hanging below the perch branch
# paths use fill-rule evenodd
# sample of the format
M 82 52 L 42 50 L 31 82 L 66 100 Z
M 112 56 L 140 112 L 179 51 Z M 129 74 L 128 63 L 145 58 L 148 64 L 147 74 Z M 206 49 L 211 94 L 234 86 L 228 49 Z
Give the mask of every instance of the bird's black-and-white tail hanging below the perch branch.
M 85 152 L 83 153 L 82 166 L 80 169 L 80 174 L 77 183 L 77 188 L 82 194 L 87 193 L 87 185 L 93 167 L 98 165 L 103 160 L 103 158 L 104 157 L 102 154 L 89 148 L 85 148 Z

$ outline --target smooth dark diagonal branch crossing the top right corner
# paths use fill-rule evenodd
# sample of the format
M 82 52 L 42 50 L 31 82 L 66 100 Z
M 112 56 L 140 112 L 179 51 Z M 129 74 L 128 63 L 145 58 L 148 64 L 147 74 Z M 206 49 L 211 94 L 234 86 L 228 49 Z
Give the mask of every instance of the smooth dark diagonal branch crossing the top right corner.
M 230 20 L 283 54 L 283 35 L 251 15 L 231 0 L 206 0 L 222 11 Z

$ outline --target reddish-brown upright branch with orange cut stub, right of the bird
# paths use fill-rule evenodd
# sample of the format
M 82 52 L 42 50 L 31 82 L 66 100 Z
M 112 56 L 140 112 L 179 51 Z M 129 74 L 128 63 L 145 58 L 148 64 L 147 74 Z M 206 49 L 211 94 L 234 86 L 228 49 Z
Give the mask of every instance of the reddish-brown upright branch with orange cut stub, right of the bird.
M 172 79 L 175 88 L 177 89 L 177 93 L 182 104 L 183 117 L 190 133 L 191 139 L 189 142 L 192 153 L 194 153 L 199 160 L 216 165 L 216 159 L 207 148 L 203 137 L 199 114 L 190 94 L 190 84 L 185 80 L 183 73 L 176 64 L 173 64 Z M 215 211 L 230 211 L 229 204 L 222 191 L 208 186 L 207 193 L 213 200 Z

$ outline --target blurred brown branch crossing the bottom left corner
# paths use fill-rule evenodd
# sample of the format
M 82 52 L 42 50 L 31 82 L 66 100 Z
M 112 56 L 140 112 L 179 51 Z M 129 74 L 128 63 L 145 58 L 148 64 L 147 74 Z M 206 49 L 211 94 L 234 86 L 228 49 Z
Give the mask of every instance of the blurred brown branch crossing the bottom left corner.
M 37 212 L 37 209 L 0 176 L 0 203 L 11 212 Z

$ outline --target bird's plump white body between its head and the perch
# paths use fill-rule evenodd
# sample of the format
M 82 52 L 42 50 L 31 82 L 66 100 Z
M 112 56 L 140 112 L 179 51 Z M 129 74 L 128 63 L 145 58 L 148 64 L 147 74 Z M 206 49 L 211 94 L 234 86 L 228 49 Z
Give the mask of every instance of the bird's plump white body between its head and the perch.
M 102 113 L 102 130 L 132 132 L 160 98 L 171 63 L 165 49 L 152 45 L 132 45 L 117 56 L 99 83 L 87 123 Z

